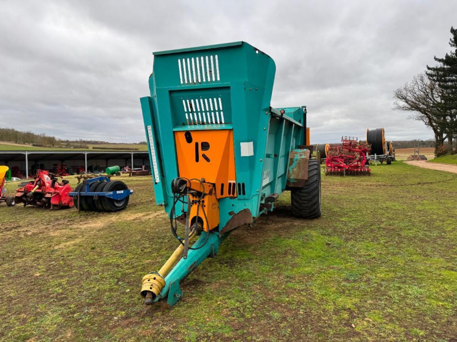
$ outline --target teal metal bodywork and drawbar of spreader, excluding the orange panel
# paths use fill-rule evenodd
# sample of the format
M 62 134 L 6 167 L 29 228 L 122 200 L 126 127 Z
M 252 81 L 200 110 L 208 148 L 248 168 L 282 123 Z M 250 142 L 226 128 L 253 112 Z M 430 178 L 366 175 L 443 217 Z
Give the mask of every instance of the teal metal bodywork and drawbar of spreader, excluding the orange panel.
M 306 107 L 271 108 L 275 71 L 270 56 L 242 41 L 154 53 L 151 96 L 140 101 L 156 203 L 170 213 L 171 181 L 179 176 L 173 134 L 177 130 L 233 130 L 236 182 L 245 184 L 244 194 L 219 200 L 218 232 L 209 239 L 215 247 L 191 251 L 181 259 L 156 300 L 169 290 L 180 295 L 179 281 L 190 273 L 188 267 L 195 268 L 217 252 L 229 222 L 236 218 L 236 227 L 254 222 L 273 209 L 271 198 L 286 189 L 289 153 L 306 141 Z M 206 99 L 213 99 L 215 108 L 205 108 Z M 170 295 L 168 302 L 174 304 Z

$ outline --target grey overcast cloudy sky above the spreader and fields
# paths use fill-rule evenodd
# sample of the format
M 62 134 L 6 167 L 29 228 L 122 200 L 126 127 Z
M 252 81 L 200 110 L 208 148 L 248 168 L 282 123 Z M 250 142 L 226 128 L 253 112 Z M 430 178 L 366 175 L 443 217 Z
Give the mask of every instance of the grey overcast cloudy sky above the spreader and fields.
M 429 139 L 393 90 L 443 56 L 457 1 L 3 1 L 0 127 L 145 140 L 154 51 L 247 41 L 276 62 L 273 107 L 308 106 L 311 142 Z

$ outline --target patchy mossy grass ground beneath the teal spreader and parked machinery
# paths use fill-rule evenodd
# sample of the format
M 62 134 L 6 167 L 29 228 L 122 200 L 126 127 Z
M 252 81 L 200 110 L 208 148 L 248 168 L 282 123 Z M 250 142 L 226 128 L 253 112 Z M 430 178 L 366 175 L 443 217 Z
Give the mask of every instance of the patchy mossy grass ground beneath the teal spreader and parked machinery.
M 456 341 L 457 175 L 371 167 L 323 177 L 319 219 L 289 217 L 283 194 L 172 309 L 139 296 L 176 246 L 149 177 L 122 177 L 118 214 L 1 204 L 0 340 Z

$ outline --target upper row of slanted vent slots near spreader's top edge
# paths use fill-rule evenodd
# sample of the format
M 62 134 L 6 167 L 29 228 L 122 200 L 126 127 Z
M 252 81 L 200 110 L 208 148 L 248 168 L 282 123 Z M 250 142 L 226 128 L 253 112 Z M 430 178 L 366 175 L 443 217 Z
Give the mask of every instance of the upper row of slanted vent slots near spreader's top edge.
M 220 81 L 218 55 L 178 59 L 181 84 Z

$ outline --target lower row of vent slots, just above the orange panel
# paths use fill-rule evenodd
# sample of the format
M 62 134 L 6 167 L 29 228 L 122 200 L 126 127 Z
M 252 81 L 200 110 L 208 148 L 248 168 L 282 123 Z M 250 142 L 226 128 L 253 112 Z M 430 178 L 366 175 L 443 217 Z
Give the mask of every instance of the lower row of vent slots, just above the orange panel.
M 224 124 L 222 99 L 191 98 L 182 100 L 187 124 Z

